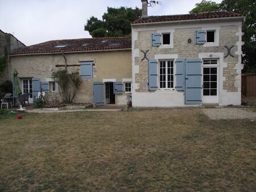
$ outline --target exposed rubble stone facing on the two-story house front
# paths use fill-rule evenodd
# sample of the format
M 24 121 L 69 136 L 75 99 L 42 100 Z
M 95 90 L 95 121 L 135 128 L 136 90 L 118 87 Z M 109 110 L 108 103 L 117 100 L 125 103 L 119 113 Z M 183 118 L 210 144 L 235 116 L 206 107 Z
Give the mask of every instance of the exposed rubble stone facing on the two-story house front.
M 193 42 L 194 33 L 196 30 L 201 30 L 201 28 L 178 28 L 174 32 L 174 48 L 159 48 L 151 46 L 151 34 L 156 33 L 156 30 L 151 31 L 139 31 L 138 40 L 134 41 L 134 48 L 146 51 L 149 50 L 147 57 L 148 59 L 154 59 L 155 55 L 170 55 L 176 54 L 179 58 L 199 58 L 199 53 L 209 53 L 209 52 L 222 52 L 227 53 L 225 45 L 230 47 L 234 45 L 231 50 L 231 54 L 234 57 L 228 56 L 224 59 L 228 65 L 223 69 L 223 75 L 225 81 L 223 82 L 223 87 L 227 91 L 238 91 L 238 87 L 235 86 L 237 70 L 235 68 L 238 61 L 238 55 L 236 51 L 238 50 L 237 42 L 239 41 L 238 35 L 239 26 L 221 26 L 220 27 L 220 39 L 219 46 L 216 47 L 204 47 L 202 44 L 195 44 Z M 192 39 L 192 43 L 188 43 L 188 39 Z M 147 76 L 148 76 L 148 63 L 146 60 L 141 61 L 143 58 L 143 53 L 139 51 L 138 57 L 135 57 L 135 65 L 139 66 L 139 73 L 135 73 L 135 83 L 139 85 L 136 91 L 147 92 Z M 241 72 L 240 72 L 241 74 Z

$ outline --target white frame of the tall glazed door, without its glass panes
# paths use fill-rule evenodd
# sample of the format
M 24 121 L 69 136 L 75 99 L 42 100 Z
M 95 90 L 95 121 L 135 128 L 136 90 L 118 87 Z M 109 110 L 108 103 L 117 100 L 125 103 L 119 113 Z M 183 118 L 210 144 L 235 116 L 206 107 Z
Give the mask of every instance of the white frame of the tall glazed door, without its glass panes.
M 204 60 L 217 60 L 217 65 L 204 65 Z M 217 68 L 217 95 L 215 96 L 207 96 L 204 95 L 204 68 Z M 202 103 L 218 103 L 218 95 L 219 95 L 219 89 L 220 89 L 220 60 L 218 58 L 204 58 L 202 59 L 202 69 L 201 69 L 201 85 L 202 85 L 202 90 L 201 90 L 201 98 L 202 98 Z

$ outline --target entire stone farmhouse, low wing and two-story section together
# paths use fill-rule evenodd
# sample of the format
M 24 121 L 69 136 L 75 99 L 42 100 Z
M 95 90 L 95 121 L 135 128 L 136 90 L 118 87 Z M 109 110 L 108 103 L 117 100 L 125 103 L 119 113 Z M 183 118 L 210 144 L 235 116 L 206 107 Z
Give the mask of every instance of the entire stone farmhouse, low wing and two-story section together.
M 52 72 L 79 70 L 82 85 L 75 103 L 134 107 L 241 105 L 242 24 L 228 11 L 143 16 L 132 37 L 53 40 L 17 49 L 10 69 L 18 70 L 30 99 L 42 89 L 59 102 Z

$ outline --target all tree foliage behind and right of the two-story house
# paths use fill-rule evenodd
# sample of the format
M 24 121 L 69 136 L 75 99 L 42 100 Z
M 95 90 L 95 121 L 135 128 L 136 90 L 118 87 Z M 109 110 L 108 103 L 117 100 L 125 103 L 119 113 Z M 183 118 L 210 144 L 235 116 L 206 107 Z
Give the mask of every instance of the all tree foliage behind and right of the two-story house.
M 242 62 L 245 64 L 245 72 L 256 72 L 256 2 L 255 0 L 223 0 L 220 4 L 212 1 L 201 1 L 196 7 L 189 11 L 190 13 L 204 11 L 226 10 L 230 12 L 239 12 L 246 16 L 242 31 L 244 35 L 242 41 L 243 56 Z

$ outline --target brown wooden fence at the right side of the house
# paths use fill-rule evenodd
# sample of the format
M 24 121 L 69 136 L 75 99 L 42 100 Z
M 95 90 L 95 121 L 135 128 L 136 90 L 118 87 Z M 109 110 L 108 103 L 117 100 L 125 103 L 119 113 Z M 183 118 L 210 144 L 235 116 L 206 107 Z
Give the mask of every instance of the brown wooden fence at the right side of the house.
M 256 96 L 256 73 L 242 74 L 242 95 Z

